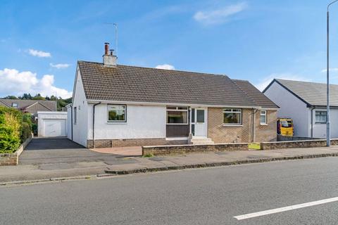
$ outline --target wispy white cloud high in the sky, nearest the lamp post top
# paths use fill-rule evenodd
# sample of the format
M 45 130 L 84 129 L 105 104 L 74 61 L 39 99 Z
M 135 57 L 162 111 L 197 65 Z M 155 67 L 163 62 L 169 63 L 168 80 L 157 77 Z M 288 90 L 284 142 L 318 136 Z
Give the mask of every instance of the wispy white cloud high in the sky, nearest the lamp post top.
M 242 2 L 213 11 L 198 11 L 194 14 L 194 20 L 204 25 L 225 23 L 231 15 L 244 11 L 247 7 L 248 4 Z

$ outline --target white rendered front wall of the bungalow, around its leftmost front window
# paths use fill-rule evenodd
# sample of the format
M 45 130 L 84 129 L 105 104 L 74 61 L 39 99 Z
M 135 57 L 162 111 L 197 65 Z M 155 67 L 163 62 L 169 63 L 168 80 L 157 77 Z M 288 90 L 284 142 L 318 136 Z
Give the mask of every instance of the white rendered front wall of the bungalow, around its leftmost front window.
M 92 139 L 92 104 L 88 107 L 88 139 Z M 165 138 L 165 106 L 127 105 L 127 122 L 107 122 L 107 104 L 95 107 L 95 139 Z

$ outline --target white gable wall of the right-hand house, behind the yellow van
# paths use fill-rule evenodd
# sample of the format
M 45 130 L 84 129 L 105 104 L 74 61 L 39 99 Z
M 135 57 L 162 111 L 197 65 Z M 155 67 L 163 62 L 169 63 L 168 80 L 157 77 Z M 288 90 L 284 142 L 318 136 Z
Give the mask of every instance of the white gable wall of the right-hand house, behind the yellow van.
M 311 136 L 311 117 L 309 117 L 309 108 L 299 98 L 284 89 L 280 84 L 274 82 L 265 96 L 270 98 L 280 107 L 277 117 L 290 117 L 294 121 L 294 136 Z

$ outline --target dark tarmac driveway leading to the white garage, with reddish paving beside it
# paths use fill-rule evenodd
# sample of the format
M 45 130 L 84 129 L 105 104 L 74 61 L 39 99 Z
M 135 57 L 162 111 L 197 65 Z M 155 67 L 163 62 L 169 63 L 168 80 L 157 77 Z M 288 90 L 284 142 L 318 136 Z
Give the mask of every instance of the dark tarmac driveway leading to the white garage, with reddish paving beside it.
M 32 139 L 19 158 L 19 165 L 39 165 L 41 169 L 70 169 L 89 162 L 119 165 L 134 160 L 123 155 L 94 152 L 65 138 Z

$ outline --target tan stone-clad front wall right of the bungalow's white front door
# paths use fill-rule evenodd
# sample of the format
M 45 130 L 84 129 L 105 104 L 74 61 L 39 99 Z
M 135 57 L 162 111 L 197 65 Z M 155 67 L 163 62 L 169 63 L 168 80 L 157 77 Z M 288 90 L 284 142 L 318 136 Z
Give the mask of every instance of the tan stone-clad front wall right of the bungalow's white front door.
M 276 141 L 277 111 L 267 111 L 267 125 L 260 123 L 260 111 L 255 113 L 255 142 Z M 208 108 L 208 137 L 215 143 L 252 141 L 252 109 L 242 109 L 241 126 L 223 125 L 223 108 Z

